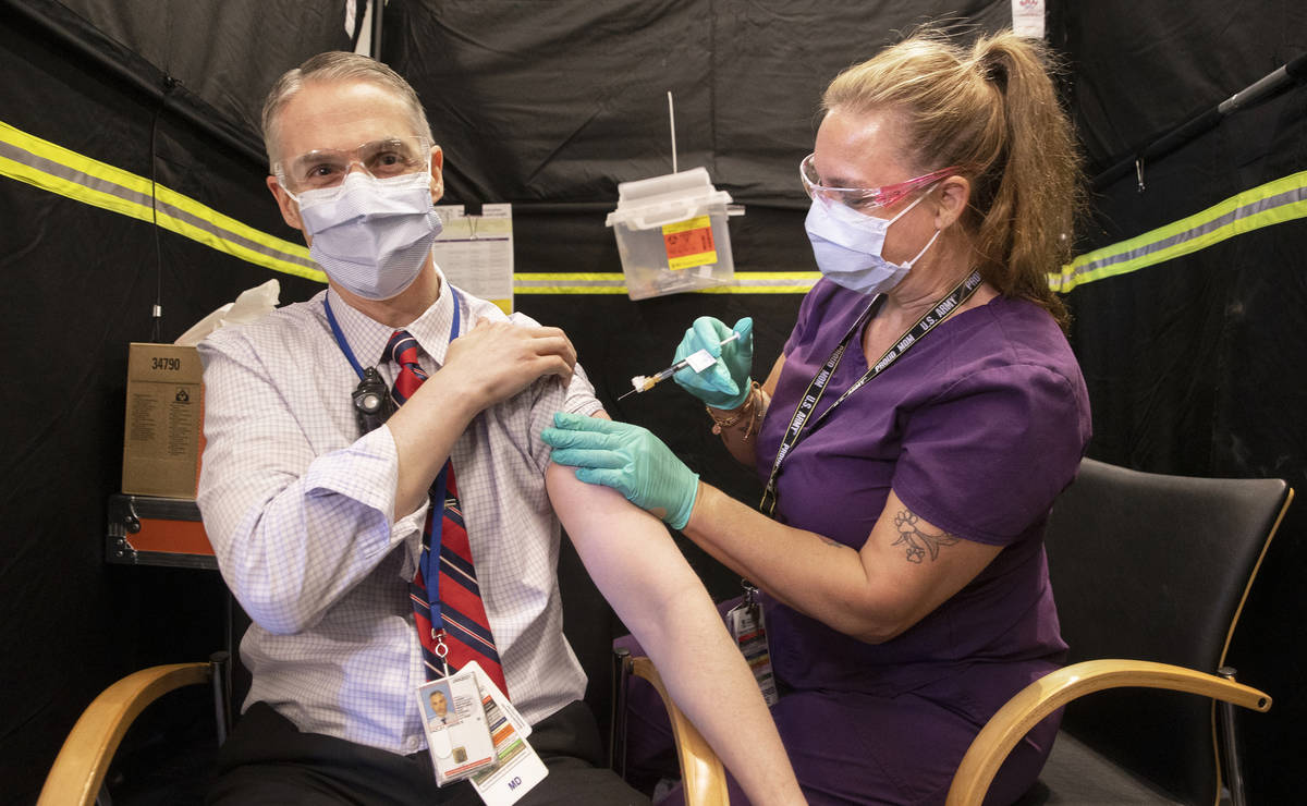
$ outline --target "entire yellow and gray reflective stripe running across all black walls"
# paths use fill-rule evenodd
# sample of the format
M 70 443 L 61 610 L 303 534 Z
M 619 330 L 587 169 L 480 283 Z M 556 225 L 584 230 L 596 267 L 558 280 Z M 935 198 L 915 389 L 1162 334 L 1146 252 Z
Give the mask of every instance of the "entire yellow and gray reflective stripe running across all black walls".
M 213 250 L 274 272 L 327 282 L 327 276 L 302 244 L 268 235 L 163 185 L 156 185 L 152 205 L 149 179 L 84 157 L 3 121 L 0 175 L 142 221 L 154 221 L 157 212 L 161 227 Z M 1304 217 L 1307 171 L 1251 188 L 1175 223 L 1081 255 L 1061 272 L 1050 273 L 1048 285 L 1065 294 L 1095 280 L 1127 274 L 1235 235 Z M 693 293 L 805 294 L 819 277 L 818 272 L 737 272 L 731 285 Z M 626 294 L 627 289 L 620 272 L 519 272 L 514 274 L 514 291 Z

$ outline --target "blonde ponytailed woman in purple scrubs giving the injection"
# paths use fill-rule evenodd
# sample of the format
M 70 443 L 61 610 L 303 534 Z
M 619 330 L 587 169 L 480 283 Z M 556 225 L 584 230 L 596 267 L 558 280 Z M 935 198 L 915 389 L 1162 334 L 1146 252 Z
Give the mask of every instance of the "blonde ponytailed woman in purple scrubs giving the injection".
M 710 317 L 676 351 L 720 355 L 676 380 L 755 466 L 761 513 L 648 431 L 559 414 L 545 432 L 554 461 L 672 513 L 761 588 L 772 716 L 813 803 L 942 803 L 989 716 L 1065 649 L 1043 532 L 1090 415 L 1047 281 L 1077 169 L 1042 56 L 923 31 L 826 89 L 799 171 L 823 277 L 784 353 L 752 383 L 750 320 L 718 347 L 732 329 Z M 987 802 L 1030 786 L 1056 729 L 1034 728 Z M 629 766 L 667 772 L 656 728 L 631 741 Z

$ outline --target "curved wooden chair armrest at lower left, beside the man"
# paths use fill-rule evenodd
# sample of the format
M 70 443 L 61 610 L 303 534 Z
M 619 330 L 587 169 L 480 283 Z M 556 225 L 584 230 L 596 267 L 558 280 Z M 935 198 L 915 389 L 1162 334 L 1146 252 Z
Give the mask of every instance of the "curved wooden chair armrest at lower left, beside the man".
M 132 720 L 174 688 L 208 683 L 209 664 L 150 666 L 124 677 L 86 707 L 55 758 L 37 806 L 89 806 Z

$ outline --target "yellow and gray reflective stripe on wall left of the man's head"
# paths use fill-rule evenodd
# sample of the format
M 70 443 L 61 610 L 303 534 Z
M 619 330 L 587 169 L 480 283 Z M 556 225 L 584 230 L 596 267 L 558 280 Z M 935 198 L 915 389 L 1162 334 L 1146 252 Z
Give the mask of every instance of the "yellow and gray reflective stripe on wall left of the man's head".
M 308 250 L 247 226 L 235 218 L 156 185 L 150 180 L 84 157 L 0 121 L 0 175 L 114 213 L 154 221 L 169 231 L 276 272 L 327 282 Z

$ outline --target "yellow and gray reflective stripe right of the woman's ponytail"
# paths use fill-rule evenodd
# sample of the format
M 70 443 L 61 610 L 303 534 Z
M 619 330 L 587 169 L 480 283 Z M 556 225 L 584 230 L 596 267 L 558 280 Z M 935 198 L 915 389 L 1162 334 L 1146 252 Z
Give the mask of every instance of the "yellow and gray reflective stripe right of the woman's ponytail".
M 1048 274 L 1048 286 L 1067 293 L 1076 286 L 1116 277 L 1189 255 L 1235 235 L 1307 217 L 1307 171 L 1249 188 L 1201 213 L 1081 255 Z

